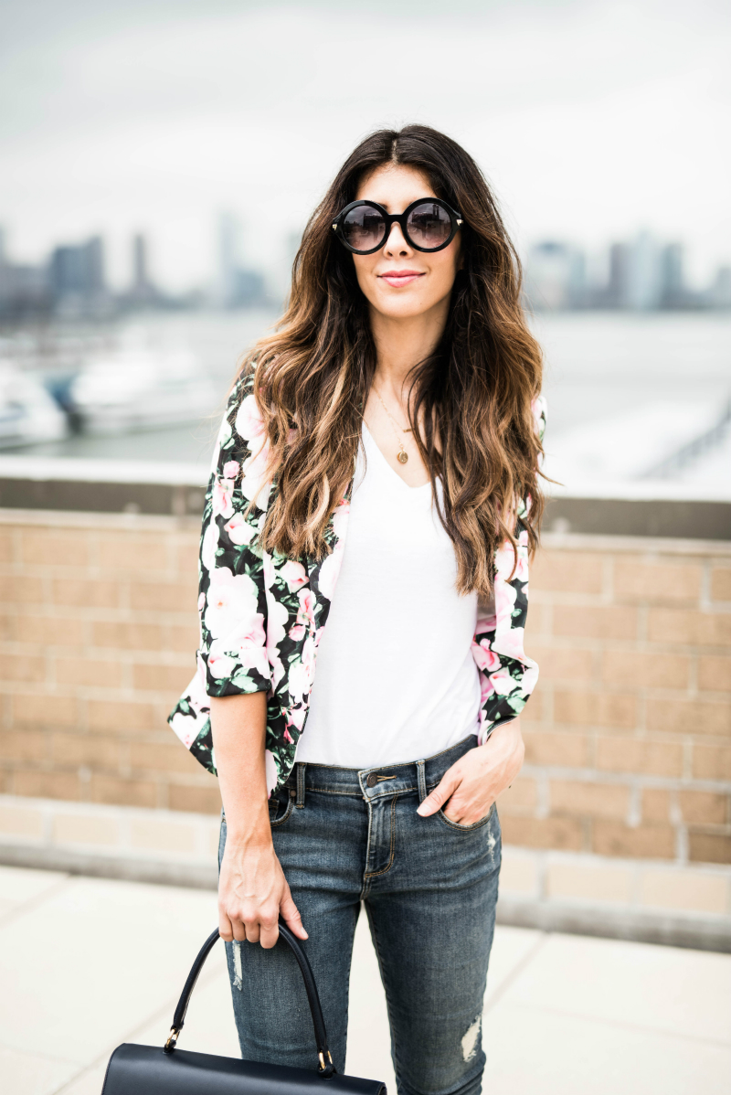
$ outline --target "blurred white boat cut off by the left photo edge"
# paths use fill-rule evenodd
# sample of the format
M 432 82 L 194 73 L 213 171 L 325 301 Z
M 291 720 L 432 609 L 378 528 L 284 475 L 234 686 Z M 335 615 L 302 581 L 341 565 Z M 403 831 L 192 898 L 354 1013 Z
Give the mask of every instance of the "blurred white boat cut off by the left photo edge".
M 68 433 L 67 416 L 43 383 L 0 360 L 0 449 L 60 441 Z

